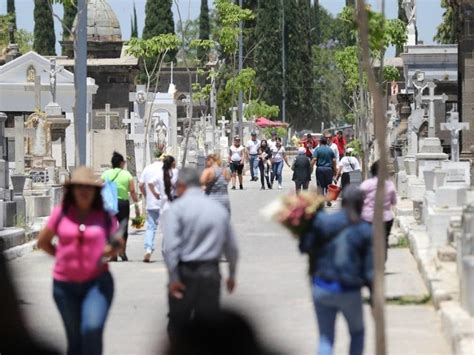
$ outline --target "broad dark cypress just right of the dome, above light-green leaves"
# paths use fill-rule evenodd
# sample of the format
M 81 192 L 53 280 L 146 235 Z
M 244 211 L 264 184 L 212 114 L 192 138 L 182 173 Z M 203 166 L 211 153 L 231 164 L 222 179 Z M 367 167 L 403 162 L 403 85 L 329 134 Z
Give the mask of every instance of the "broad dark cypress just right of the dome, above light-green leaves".
M 163 34 L 174 34 L 174 19 L 171 7 L 173 0 L 147 0 L 145 5 L 145 27 L 143 39 Z M 174 60 L 176 51 L 170 50 L 168 60 Z

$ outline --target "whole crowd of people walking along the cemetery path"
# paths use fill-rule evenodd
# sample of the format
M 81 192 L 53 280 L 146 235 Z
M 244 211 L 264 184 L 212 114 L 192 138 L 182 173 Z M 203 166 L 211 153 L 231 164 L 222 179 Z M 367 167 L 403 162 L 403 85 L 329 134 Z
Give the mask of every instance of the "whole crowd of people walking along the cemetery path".
M 296 193 L 309 188 L 316 168 L 316 183 L 325 194 L 329 185 L 341 180 L 342 208 L 320 212 L 309 233 L 300 236 L 300 251 L 309 254 L 317 321 L 320 332 L 319 354 L 332 354 L 334 322 L 338 312 L 345 317 L 351 335 L 351 354 L 362 354 L 364 325 L 360 289 L 372 282 L 372 228 L 378 163 L 372 177 L 360 187 L 350 183 L 350 173 L 360 170 L 356 157 L 342 134 L 319 141 L 308 135 L 290 164 L 281 138 L 259 140 L 252 133 L 241 145 L 234 137 L 228 166 L 220 156 L 207 157 L 206 167 L 176 168 L 176 160 L 158 149 L 156 160 L 139 179 L 145 199 L 146 232 L 143 262 L 150 262 L 155 251 L 158 226 L 163 233 L 162 254 L 168 269 L 168 335 L 176 349 L 179 339 L 189 336 L 190 321 L 208 319 L 220 309 L 221 273 L 224 257 L 228 267 L 225 287 L 236 287 L 238 247 L 230 223 L 228 185 L 243 189 L 244 164 L 250 168 L 250 181 L 271 189 L 275 180 L 282 188 L 284 164 L 293 170 Z M 114 279 L 108 262 L 128 260 L 126 245 L 130 199 L 140 214 L 132 175 L 125 159 L 114 153 L 112 168 L 97 179 L 93 171 L 80 167 L 65 184 L 65 195 L 38 237 L 38 246 L 55 258 L 53 295 L 63 319 L 68 354 L 101 354 L 102 334 L 114 296 Z M 110 215 L 102 201 L 104 181 L 117 187 L 118 213 Z M 384 222 L 386 245 L 393 225 L 391 209 L 396 204 L 393 183 L 386 181 Z M 199 206 L 199 208 L 189 208 Z M 57 236 L 57 241 L 54 241 Z M 220 319 L 220 318 L 218 318 Z M 184 333 L 183 333 L 184 332 Z M 174 344 L 174 345 L 173 345 Z M 179 346 L 178 346 L 178 345 Z M 179 353 L 170 350 L 170 354 Z M 191 353 L 190 353 L 191 354 Z

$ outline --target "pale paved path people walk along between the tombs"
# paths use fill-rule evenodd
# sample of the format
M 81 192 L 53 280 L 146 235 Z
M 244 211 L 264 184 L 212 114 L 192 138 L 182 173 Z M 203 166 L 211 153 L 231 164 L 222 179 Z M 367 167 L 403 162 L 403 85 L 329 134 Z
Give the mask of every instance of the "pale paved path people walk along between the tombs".
M 289 190 L 290 182 L 284 187 Z M 243 310 L 254 321 L 262 338 L 284 354 L 315 353 L 317 332 L 306 258 L 283 230 L 262 219 L 259 210 L 282 191 L 259 191 L 246 183 L 232 191 L 233 222 L 239 236 L 241 261 L 237 292 L 224 303 Z M 165 339 L 166 272 L 159 254 L 154 262 L 142 259 L 143 232 L 129 241 L 129 263 L 114 263 L 116 294 L 105 334 L 110 355 L 159 354 Z M 30 327 L 39 337 L 65 348 L 59 314 L 51 296 L 52 259 L 40 251 L 10 263 L 19 287 L 21 304 Z M 391 249 L 387 265 L 387 295 L 423 296 L 426 289 L 407 249 Z M 366 354 L 374 353 L 373 322 L 365 307 Z M 448 355 L 449 347 L 431 305 L 388 305 L 389 354 Z M 338 321 L 337 354 L 348 348 L 346 326 Z

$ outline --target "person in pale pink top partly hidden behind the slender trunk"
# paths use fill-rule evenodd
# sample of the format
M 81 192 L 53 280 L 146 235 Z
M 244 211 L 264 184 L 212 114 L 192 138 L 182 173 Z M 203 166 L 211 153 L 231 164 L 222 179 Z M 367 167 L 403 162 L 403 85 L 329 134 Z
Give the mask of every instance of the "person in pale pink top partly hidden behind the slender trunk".
M 362 212 L 362 219 L 371 224 L 374 223 L 374 211 L 375 211 L 375 194 L 377 192 L 378 173 L 379 173 L 379 162 L 376 161 L 370 167 L 370 174 L 372 177 L 365 180 L 360 185 L 362 191 L 365 192 L 364 210 Z M 395 184 L 387 179 L 385 181 L 385 195 L 383 199 L 383 221 L 385 224 L 385 260 L 387 260 L 388 254 L 388 238 L 393 226 L 393 208 L 397 205 L 397 190 Z

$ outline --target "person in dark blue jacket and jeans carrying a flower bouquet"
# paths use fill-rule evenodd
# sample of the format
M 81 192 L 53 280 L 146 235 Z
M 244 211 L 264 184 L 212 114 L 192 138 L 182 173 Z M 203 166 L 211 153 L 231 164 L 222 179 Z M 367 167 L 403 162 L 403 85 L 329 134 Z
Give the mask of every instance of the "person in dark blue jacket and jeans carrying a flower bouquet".
M 364 352 L 361 288 L 373 281 L 372 227 L 361 219 L 364 193 L 354 186 L 343 192 L 342 210 L 319 212 L 300 251 L 310 255 L 310 277 L 319 329 L 318 355 L 332 355 L 338 313 L 344 316 L 351 343 L 349 354 Z

